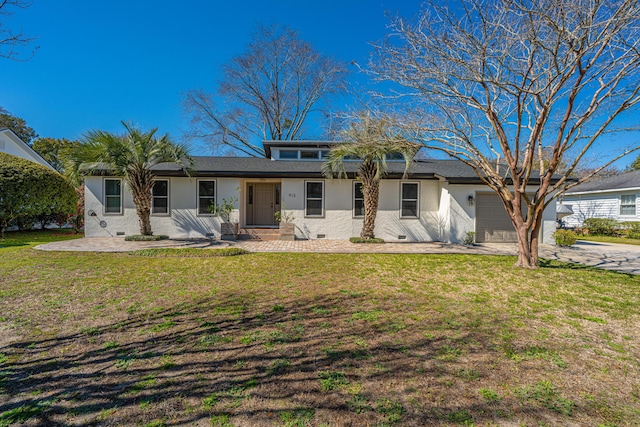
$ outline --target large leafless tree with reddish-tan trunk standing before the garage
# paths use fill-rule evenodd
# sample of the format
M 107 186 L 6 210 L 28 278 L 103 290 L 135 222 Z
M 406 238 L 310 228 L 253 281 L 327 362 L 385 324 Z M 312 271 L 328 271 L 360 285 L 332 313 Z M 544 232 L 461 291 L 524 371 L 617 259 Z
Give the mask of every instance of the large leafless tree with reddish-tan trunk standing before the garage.
M 375 73 L 417 101 L 406 129 L 470 165 L 500 196 L 518 235 L 517 265 L 535 268 L 552 199 L 640 148 L 607 150 L 593 174 L 568 180 L 606 134 L 630 130 L 623 116 L 640 101 L 638 1 L 424 7 L 415 22 L 392 19 Z

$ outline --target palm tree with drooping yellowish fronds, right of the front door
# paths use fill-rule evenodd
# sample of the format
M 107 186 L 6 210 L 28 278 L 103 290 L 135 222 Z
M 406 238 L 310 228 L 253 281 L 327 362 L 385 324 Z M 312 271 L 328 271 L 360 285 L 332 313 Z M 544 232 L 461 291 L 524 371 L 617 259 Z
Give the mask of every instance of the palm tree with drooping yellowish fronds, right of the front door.
M 420 149 L 418 144 L 394 134 L 390 129 L 389 120 L 373 117 L 370 113 L 361 114 L 342 132 L 342 138 L 350 142 L 335 144 L 322 167 L 325 176 L 347 178 L 345 160 L 360 160 L 357 175 L 364 195 L 364 222 L 360 237 L 364 239 L 375 237 L 380 180 L 388 172 L 387 158 L 390 155 L 402 156 L 402 177 L 405 178 Z

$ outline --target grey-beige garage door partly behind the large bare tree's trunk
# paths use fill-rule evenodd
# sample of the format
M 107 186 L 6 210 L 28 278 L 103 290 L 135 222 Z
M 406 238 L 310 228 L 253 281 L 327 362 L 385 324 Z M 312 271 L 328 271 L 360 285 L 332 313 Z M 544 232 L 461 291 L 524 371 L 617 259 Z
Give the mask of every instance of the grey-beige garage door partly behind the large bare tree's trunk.
M 513 243 L 518 237 L 509 214 L 496 194 L 476 195 L 476 242 Z

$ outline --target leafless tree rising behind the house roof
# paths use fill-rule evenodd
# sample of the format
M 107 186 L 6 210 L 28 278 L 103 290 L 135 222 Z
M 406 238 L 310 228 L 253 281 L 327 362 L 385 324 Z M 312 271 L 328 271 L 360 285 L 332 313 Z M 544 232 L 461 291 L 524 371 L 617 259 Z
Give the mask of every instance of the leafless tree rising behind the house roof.
M 345 71 L 294 30 L 259 26 L 246 52 L 224 67 L 216 95 L 202 90 L 187 93 L 190 136 L 206 139 L 214 147 L 264 156 L 262 140 L 300 138 L 321 99 L 342 89 Z

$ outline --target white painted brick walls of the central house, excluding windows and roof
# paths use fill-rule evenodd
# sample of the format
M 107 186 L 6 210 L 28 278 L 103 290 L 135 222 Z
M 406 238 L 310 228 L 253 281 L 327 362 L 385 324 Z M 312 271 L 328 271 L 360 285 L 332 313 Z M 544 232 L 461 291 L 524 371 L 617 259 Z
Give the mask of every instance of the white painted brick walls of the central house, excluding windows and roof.
M 258 181 L 240 178 L 158 177 L 169 181 L 169 213 L 152 215 L 154 234 L 177 238 L 219 237 L 221 220 L 213 215 L 198 214 L 198 182 L 215 180 L 216 201 L 233 200 L 232 222 L 247 224 L 247 185 Z M 109 214 L 104 208 L 105 177 L 85 179 L 85 234 L 87 237 L 107 237 L 139 234 L 138 217 L 131 193 L 123 184 L 121 214 Z M 305 215 L 307 181 L 319 181 L 323 188 L 323 210 L 320 216 Z M 363 218 L 354 217 L 353 180 L 330 179 L 269 179 L 281 185 L 284 209 L 294 216 L 296 236 L 301 239 L 348 239 L 359 236 Z M 401 217 L 402 182 L 418 184 L 417 218 Z M 380 204 L 375 235 L 387 241 L 443 241 L 460 243 L 468 231 L 475 230 L 475 206 L 469 196 L 487 191 L 482 185 L 449 185 L 438 180 L 386 179 L 380 185 Z M 90 213 L 95 213 L 94 216 Z M 555 204 L 545 211 L 543 241 L 551 242 L 555 231 Z

